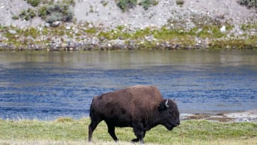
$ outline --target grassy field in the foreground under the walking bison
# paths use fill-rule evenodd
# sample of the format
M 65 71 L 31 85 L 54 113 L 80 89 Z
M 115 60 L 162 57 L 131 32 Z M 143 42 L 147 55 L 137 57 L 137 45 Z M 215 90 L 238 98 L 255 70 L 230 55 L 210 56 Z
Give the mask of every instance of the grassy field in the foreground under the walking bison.
M 90 119 L 61 118 L 56 121 L 0 120 L 0 144 L 89 144 Z M 116 128 L 119 144 L 130 144 L 134 138 L 131 128 Z M 156 126 L 146 133 L 146 144 L 257 144 L 256 123 L 218 123 L 210 121 L 182 121 L 166 130 Z M 114 144 L 106 124 L 102 122 L 93 134 L 91 144 Z

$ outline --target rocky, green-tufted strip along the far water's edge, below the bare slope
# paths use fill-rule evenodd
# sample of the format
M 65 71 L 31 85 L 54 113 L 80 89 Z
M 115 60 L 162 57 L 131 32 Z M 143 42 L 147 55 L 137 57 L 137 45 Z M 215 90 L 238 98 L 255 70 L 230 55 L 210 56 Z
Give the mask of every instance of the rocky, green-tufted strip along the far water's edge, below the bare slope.
M 115 29 L 79 24 L 58 28 L 0 26 L 0 50 L 92 51 L 142 49 L 257 49 L 257 35 L 235 36 L 233 26 L 208 24 L 192 29 L 171 29 L 168 26 Z M 257 29 L 257 24 L 247 29 Z

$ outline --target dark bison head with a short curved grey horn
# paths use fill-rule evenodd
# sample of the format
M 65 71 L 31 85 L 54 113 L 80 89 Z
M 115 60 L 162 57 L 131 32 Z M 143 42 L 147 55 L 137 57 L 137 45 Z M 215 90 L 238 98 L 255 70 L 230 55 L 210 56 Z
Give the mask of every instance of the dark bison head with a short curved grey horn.
M 178 106 L 171 99 L 161 101 L 158 106 L 161 124 L 168 130 L 180 124 Z

